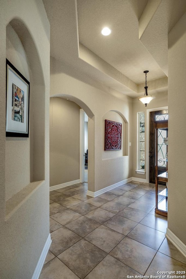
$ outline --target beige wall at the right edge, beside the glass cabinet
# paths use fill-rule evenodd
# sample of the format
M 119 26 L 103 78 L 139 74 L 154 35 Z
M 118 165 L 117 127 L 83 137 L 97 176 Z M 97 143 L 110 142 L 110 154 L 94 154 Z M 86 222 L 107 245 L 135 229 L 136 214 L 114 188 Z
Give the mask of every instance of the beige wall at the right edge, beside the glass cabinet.
M 186 14 L 169 33 L 168 228 L 186 245 Z

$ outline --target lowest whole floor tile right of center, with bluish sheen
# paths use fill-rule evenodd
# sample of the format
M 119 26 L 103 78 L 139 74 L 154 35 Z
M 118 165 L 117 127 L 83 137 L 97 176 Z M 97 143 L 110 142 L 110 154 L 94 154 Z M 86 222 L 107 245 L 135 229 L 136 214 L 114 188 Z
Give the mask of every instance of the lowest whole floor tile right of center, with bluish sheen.
M 125 237 L 110 255 L 144 275 L 157 251 Z

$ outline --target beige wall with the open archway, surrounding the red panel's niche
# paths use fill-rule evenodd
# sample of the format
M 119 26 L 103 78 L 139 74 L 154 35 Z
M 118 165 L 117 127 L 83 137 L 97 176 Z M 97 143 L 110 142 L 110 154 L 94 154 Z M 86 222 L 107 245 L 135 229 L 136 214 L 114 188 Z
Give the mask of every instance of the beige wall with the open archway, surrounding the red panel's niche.
M 65 73 L 68 73 L 65 74 Z M 87 85 L 78 79 L 72 78 L 76 72 L 67 68 L 63 63 L 51 58 L 51 96 L 65 96 L 76 102 L 89 117 L 88 122 L 88 188 L 98 191 L 104 187 L 131 177 L 132 158 L 129 149 L 128 156 L 102 159 L 103 152 L 103 115 L 113 110 L 117 111 L 129 124 L 131 139 L 132 126 L 132 99 L 123 96 L 119 100 L 111 94 Z M 128 145 L 128 144 L 127 144 Z

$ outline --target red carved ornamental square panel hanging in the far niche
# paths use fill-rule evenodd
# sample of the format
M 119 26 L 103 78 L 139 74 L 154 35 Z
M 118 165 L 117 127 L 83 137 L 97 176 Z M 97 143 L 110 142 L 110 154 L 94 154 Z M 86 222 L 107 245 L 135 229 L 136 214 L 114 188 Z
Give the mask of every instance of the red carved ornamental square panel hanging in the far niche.
M 105 151 L 121 150 L 121 123 L 105 119 Z

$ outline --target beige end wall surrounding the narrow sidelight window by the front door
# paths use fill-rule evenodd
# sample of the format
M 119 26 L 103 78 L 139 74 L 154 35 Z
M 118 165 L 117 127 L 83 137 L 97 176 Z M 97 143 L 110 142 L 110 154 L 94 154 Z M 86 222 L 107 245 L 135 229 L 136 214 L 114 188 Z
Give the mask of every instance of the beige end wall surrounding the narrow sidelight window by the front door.
M 149 94 L 150 95 L 150 94 Z M 141 96 L 141 95 L 140 95 Z M 137 98 L 133 99 L 133 137 L 131 140 L 132 151 L 133 151 L 133 171 L 132 176 L 137 178 L 146 179 L 145 174 L 137 174 L 137 112 L 145 112 L 145 150 L 146 142 L 149 141 L 149 138 L 146 137 L 146 110 L 153 108 L 160 108 L 168 105 L 168 93 L 160 92 L 153 94 L 155 99 L 153 99 L 147 106 L 142 102 L 138 101 Z M 146 170 L 146 154 L 145 154 L 145 170 Z

